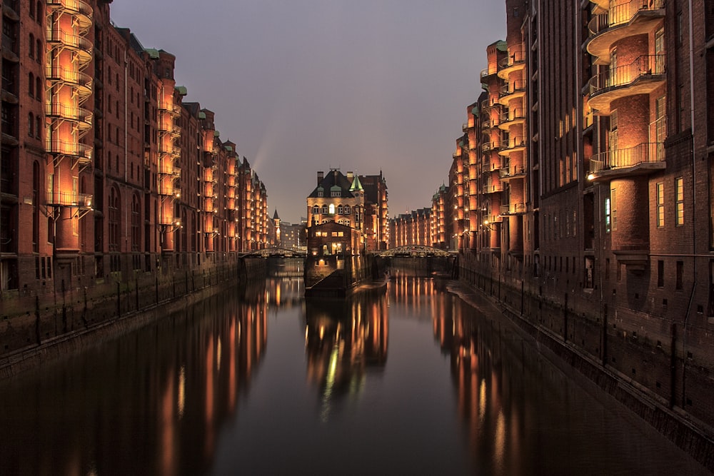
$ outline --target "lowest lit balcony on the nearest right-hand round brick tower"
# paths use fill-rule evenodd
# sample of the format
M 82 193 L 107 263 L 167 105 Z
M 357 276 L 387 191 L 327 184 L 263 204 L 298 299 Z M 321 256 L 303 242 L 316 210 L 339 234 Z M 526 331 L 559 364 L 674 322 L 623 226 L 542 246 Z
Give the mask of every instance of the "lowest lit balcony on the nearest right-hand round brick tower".
M 665 148 L 661 142 L 643 142 L 630 148 L 596 153 L 590 157 L 592 181 L 643 175 L 665 168 Z

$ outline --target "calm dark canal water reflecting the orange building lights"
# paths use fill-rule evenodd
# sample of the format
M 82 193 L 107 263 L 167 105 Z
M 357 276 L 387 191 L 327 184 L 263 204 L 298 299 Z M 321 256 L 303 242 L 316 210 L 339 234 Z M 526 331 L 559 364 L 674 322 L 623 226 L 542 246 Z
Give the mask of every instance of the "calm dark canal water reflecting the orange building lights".
M 706 474 L 561 367 L 453 281 L 270 278 L 0 382 L 0 473 Z

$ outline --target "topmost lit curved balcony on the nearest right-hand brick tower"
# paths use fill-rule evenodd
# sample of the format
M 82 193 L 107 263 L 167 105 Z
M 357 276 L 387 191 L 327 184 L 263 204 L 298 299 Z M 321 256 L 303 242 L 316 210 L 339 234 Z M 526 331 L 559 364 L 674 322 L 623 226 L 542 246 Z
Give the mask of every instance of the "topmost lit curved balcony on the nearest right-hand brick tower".
M 595 64 L 610 63 L 610 46 L 628 36 L 648 33 L 665 16 L 665 0 L 630 0 L 590 20 L 585 47 Z

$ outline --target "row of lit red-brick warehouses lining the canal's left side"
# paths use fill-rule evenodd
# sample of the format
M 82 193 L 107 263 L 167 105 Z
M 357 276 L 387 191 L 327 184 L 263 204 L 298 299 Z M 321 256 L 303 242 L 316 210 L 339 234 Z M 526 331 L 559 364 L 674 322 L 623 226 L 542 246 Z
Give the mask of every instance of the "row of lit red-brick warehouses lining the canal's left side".
M 101 0 L 5 0 L 0 288 L 52 293 L 268 243 L 267 193 L 173 55 Z

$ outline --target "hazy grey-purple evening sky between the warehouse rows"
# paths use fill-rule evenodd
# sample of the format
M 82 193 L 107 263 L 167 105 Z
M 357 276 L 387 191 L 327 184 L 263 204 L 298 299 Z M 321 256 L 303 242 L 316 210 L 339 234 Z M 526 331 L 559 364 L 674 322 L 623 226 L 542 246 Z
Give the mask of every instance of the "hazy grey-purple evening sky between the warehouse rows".
M 185 101 L 216 113 L 299 223 L 318 171 L 383 173 L 389 216 L 448 181 L 504 0 L 114 0 L 111 19 L 176 56 Z

